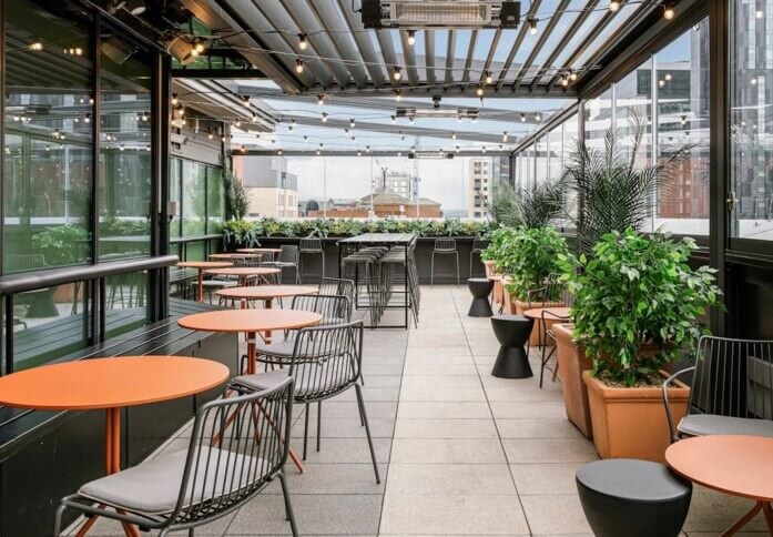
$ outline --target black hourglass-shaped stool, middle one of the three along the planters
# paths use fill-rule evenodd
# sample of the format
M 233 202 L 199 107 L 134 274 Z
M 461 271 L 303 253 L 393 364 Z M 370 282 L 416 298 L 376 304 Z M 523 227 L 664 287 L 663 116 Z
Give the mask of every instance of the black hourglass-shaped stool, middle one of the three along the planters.
M 496 315 L 491 317 L 494 335 L 499 342 L 499 353 L 491 375 L 500 378 L 529 378 L 533 376 L 526 354 L 526 345 L 533 320 L 523 315 Z

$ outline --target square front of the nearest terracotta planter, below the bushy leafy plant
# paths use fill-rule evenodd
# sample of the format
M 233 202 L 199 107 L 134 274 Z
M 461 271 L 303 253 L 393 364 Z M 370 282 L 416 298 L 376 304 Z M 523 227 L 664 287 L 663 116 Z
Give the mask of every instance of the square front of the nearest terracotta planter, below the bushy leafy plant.
M 593 444 L 601 458 L 639 458 L 665 463 L 670 444 L 669 424 L 660 387 L 611 387 L 583 374 L 588 386 Z M 688 408 L 690 387 L 679 383 L 669 388 L 677 423 Z

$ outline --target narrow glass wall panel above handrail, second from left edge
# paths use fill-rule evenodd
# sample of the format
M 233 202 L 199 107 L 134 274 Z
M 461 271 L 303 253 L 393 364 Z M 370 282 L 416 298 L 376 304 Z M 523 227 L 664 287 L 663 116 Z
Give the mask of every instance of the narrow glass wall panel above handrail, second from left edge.
M 100 260 L 149 255 L 153 59 L 105 29 L 100 62 Z

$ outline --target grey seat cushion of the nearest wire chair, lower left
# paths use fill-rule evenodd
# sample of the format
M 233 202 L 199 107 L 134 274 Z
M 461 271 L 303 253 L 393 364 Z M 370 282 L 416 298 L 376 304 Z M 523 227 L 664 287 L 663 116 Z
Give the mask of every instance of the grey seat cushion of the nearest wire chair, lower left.
M 248 476 L 260 474 L 265 476 L 272 468 L 266 460 L 247 455 L 235 454 L 217 448 L 202 447 L 197 458 L 199 469 L 194 470 L 196 483 L 189 483 L 185 501 L 193 503 L 223 495 L 223 490 L 233 487 L 233 483 L 248 484 Z M 187 450 L 161 455 L 139 466 L 128 468 L 118 474 L 102 477 L 83 485 L 79 494 L 112 507 L 162 516 L 174 510 L 180 496 L 180 488 L 185 469 Z M 210 465 L 206 487 L 203 486 L 204 472 Z M 230 472 L 226 473 L 226 465 Z M 257 468 L 257 470 L 256 470 Z M 228 477 L 238 476 L 225 483 Z M 240 479 L 241 477 L 241 479 Z M 193 482 L 193 479 L 191 479 Z M 195 494 L 192 494 L 195 486 Z

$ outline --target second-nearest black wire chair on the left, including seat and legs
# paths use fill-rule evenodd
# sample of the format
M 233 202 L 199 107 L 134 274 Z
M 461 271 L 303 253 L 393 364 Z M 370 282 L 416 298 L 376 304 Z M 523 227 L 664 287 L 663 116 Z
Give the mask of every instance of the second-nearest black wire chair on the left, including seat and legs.
M 264 389 L 286 376 L 295 379 L 294 398 L 305 405 L 303 458 L 306 459 L 308 444 L 308 408 L 312 403 L 321 403 L 354 387 L 357 394 L 360 423 L 373 458 L 376 483 L 380 483 L 376 454 L 370 437 L 363 399 L 363 388 L 357 383 L 363 365 L 363 321 L 302 328 L 295 338 L 293 355 L 287 362 L 282 359 L 283 369 L 254 375 L 241 375 L 232 379 L 231 387 L 236 391 Z M 321 408 L 319 408 L 321 409 Z M 317 413 L 317 450 L 319 450 L 319 429 L 322 412 Z

